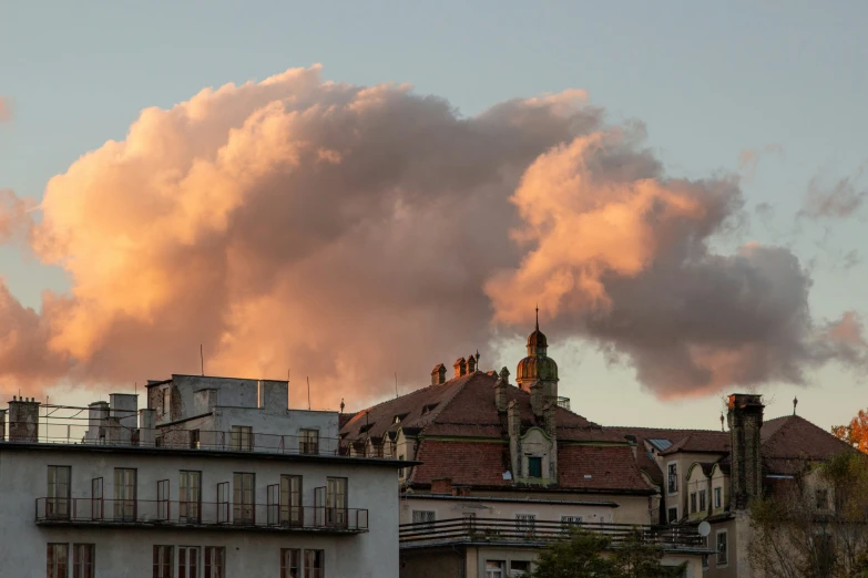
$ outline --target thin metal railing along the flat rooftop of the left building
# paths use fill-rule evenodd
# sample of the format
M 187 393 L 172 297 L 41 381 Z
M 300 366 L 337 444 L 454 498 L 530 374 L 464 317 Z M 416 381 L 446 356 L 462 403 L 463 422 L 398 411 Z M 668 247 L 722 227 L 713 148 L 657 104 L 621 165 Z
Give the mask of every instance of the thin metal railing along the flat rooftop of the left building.
M 10 427 L 10 434 L 13 431 L 16 429 Z M 127 425 L 93 426 L 41 422 L 38 427 L 31 429 L 28 435 L 0 436 L 0 441 L 268 454 L 344 455 L 340 452 L 340 440 L 337 437 L 309 437 L 258 432 L 238 435 L 238 432 L 232 431 L 187 430 L 173 426 L 143 429 Z

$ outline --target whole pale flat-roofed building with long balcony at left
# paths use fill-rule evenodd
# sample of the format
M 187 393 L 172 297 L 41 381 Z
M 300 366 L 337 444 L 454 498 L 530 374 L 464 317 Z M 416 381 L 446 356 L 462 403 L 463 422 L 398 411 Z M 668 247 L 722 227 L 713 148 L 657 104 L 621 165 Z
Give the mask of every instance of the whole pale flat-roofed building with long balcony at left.
M 190 375 L 136 405 L 0 410 L 0 576 L 398 577 L 399 463 L 340 455 L 336 412 Z

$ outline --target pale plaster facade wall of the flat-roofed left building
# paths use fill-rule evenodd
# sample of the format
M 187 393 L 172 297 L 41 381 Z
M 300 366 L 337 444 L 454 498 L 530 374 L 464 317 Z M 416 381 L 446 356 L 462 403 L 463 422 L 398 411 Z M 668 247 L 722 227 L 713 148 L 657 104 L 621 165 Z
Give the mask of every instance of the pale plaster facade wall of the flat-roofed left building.
M 34 523 L 35 500 L 47 493 L 47 466 L 72 467 L 72 497 L 89 498 L 91 479 L 104 478 L 104 497 L 113 495 L 113 469 L 137 468 L 140 499 L 156 499 L 156 482 L 167 478 L 171 498 L 177 499 L 180 469 L 202 472 L 203 503 L 216 500 L 216 484 L 229 482 L 233 472 L 256 474 L 256 503 L 266 503 L 266 486 L 282 474 L 300 474 L 304 505 L 314 505 L 314 488 L 327 476 L 348 478 L 350 508 L 369 510 L 368 533 L 317 535 L 315 533 L 251 531 L 194 528 L 68 528 Z M 326 576 L 359 578 L 398 577 L 398 481 L 392 467 L 354 463 L 290 461 L 277 456 L 228 458 L 219 456 L 142 455 L 134 450 L 110 452 L 8 450 L 0 444 L 0 576 L 44 576 L 45 545 L 91 543 L 96 546 L 100 578 L 146 578 L 152 574 L 154 545 L 225 546 L 228 577 L 277 576 L 280 548 L 326 550 Z M 106 503 L 106 514 L 109 514 Z M 204 507 L 203 507 L 204 509 Z

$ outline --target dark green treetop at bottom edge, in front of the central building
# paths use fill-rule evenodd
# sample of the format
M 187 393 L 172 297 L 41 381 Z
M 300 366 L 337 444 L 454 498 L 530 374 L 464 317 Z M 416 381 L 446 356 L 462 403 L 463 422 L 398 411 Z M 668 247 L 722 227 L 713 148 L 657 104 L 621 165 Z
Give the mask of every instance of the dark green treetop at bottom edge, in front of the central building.
M 607 536 L 571 529 L 569 539 L 545 548 L 532 578 L 668 578 L 681 576 L 684 567 L 663 566 L 663 550 L 643 544 L 631 534 L 616 545 Z

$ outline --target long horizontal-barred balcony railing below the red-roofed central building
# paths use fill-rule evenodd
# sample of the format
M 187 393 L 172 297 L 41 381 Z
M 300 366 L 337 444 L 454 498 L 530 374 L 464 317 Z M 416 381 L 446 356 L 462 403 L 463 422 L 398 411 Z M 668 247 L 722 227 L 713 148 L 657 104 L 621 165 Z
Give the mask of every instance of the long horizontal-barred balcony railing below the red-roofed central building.
M 656 544 L 665 550 L 703 548 L 695 528 L 675 526 L 635 526 L 631 524 L 562 523 L 503 518 L 450 518 L 437 522 L 401 524 L 401 547 L 456 543 L 545 544 L 565 539 L 570 528 L 604 534 L 613 546 L 637 535 L 644 544 Z

